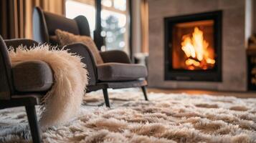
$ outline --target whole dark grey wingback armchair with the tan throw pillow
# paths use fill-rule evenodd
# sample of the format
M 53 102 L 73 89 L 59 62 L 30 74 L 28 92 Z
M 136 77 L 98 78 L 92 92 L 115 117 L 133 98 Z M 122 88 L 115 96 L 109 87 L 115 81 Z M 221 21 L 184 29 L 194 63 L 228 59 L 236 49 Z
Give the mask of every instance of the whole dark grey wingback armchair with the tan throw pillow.
M 56 29 L 68 31 L 72 34 L 90 36 L 89 24 L 85 16 L 67 19 L 64 16 L 42 11 L 39 7 L 34 9 L 33 26 L 34 40 L 52 45 L 60 45 L 57 36 L 54 34 Z M 147 82 L 145 80 L 148 75 L 146 66 L 132 64 L 124 51 L 100 52 L 104 63 L 96 64 L 93 53 L 85 44 L 69 44 L 65 46 L 65 49 L 83 57 L 82 62 L 87 65 L 90 77 L 87 92 L 103 89 L 107 107 L 110 107 L 108 88 L 141 87 L 145 99 L 148 100 L 146 94 Z

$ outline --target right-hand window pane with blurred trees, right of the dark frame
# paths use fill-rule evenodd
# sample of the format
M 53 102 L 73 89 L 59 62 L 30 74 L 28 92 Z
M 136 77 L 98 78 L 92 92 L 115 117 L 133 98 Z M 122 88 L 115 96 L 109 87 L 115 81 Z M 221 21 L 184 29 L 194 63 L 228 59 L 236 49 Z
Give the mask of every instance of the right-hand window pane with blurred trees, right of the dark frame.
M 102 0 L 101 26 L 105 49 L 118 49 L 129 53 L 128 11 L 126 0 Z

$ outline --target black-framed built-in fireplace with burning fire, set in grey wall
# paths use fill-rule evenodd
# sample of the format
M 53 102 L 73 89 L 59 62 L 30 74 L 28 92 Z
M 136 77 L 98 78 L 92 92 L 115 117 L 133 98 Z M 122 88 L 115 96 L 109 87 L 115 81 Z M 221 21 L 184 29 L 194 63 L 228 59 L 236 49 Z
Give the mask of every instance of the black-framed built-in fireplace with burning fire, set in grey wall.
M 167 17 L 165 80 L 222 81 L 222 11 Z

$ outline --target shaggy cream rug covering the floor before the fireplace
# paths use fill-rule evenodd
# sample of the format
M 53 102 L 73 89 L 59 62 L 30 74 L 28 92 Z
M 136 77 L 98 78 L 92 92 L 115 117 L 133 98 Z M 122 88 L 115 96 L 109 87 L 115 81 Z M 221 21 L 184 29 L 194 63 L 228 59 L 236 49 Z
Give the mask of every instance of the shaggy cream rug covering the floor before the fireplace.
M 256 99 L 155 93 L 148 97 L 150 102 L 135 89 L 113 90 L 113 108 L 107 109 L 86 105 L 103 102 L 102 92 L 87 94 L 80 115 L 43 132 L 43 141 L 256 142 Z M 0 142 L 27 142 L 24 109 L 0 114 Z

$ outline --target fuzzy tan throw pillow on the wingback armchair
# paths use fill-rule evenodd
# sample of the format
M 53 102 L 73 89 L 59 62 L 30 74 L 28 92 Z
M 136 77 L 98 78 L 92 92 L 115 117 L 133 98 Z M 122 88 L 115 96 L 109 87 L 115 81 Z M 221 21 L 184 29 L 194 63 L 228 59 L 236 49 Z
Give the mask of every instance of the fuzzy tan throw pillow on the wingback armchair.
M 56 29 L 55 34 L 57 35 L 57 38 L 59 39 L 60 44 L 62 46 L 65 46 L 67 44 L 72 44 L 75 42 L 82 42 L 93 53 L 96 64 L 104 63 L 103 59 L 100 56 L 100 52 L 97 49 L 97 46 L 95 45 L 93 39 L 90 38 L 90 36 L 75 35 L 75 34 L 71 34 L 71 33 L 67 32 L 67 31 L 62 31 L 60 29 Z

